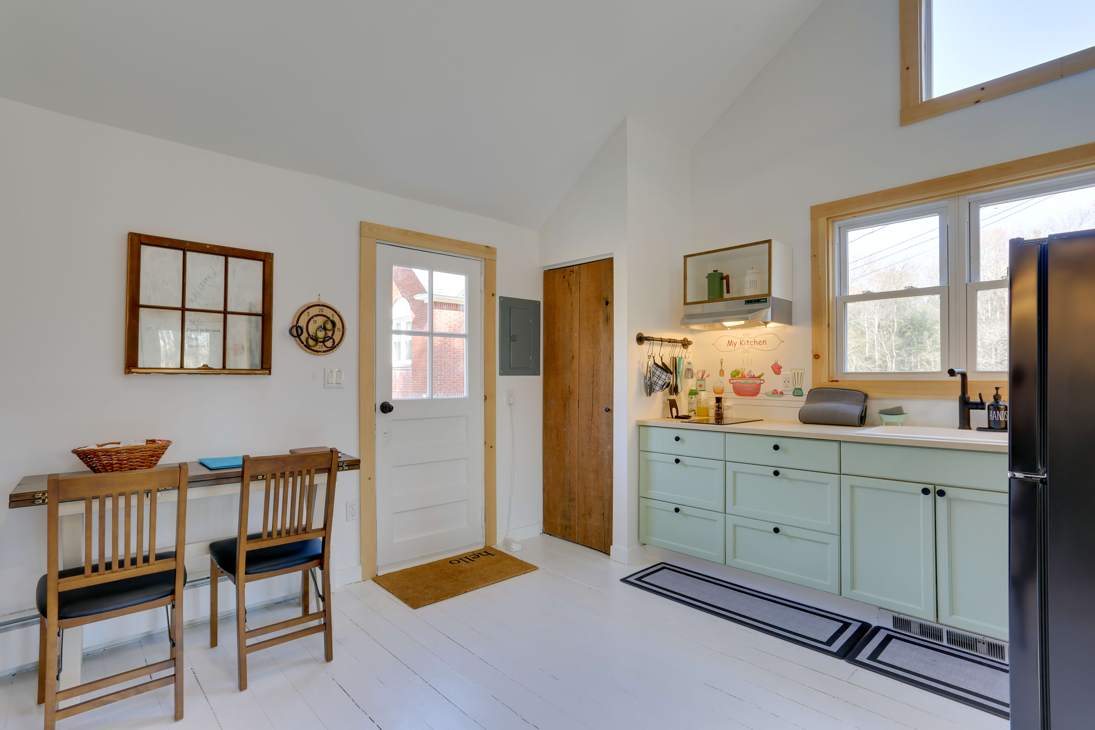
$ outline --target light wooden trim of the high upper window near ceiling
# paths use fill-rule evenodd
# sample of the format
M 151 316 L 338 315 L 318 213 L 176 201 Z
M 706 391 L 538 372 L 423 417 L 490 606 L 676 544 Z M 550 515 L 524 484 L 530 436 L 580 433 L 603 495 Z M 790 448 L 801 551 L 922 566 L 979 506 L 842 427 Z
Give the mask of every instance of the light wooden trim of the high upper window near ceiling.
M 931 60 L 925 56 L 924 32 L 930 11 L 929 2 L 931 0 L 901 0 L 902 127 L 1095 68 L 1095 46 L 1093 46 L 943 96 L 924 99 L 924 71 Z

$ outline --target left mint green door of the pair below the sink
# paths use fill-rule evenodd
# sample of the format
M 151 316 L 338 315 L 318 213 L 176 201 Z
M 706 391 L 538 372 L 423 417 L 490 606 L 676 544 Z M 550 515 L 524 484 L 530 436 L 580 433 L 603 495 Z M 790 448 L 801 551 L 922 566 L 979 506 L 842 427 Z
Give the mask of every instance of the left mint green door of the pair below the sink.
M 935 621 L 933 491 L 926 484 L 841 477 L 841 595 Z

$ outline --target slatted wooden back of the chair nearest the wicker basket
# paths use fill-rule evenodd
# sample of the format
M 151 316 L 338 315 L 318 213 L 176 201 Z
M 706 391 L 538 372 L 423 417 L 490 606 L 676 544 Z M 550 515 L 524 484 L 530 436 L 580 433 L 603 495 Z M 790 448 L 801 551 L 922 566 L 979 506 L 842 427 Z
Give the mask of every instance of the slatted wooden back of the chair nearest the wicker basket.
M 175 555 L 182 556 L 186 542 L 186 464 L 132 472 L 51 474 L 47 482 L 49 506 L 49 576 L 57 590 L 106 583 L 175 568 L 176 559 L 155 557 L 157 505 L 159 495 L 178 490 L 175 519 Z M 60 566 L 57 535 L 60 502 L 83 501 L 83 573 L 57 578 Z M 145 507 L 148 506 L 148 538 L 146 545 Z M 134 508 L 136 507 L 136 510 Z M 137 519 L 134 519 L 134 511 Z M 106 523 L 111 523 L 107 535 Z M 97 533 L 97 551 L 93 537 Z M 147 553 L 146 553 L 147 546 Z M 181 558 L 178 558 L 181 559 Z M 50 581 L 53 582 L 53 581 Z

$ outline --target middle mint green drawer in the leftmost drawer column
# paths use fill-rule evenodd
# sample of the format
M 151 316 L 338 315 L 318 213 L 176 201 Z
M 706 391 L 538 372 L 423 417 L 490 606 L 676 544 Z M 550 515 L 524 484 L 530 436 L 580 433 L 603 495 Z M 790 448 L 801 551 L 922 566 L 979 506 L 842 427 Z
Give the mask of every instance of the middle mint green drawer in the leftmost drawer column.
M 638 453 L 638 496 L 723 511 L 726 462 L 696 456 Z

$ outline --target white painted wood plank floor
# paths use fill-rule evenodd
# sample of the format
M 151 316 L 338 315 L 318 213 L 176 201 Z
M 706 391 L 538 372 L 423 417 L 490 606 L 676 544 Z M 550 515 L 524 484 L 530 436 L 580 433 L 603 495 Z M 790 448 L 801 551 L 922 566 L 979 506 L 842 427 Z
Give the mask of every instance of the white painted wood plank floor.
M 371 581 L 335 591 L 322 635 L 251 654 L 235 688 L 233 625 L 186 631 L 185 718 L 171 688 L 61 720 L 76 728 L 447 730 L 1004 730 L 1007 721 L 619 582 L 637 567 L 541 535 L 541 569 L 412 611 Z M 252 626 L 299 615 L 287 602 Z M 263 614 L 263 615 L 260 615 Z M 84 659 L 90 681 L 168 657 L 165 636 Z M 143 680 L 135 681 L 135 683 Z M 4 730 L 41 728 L 33 672 L 3 677 Z

